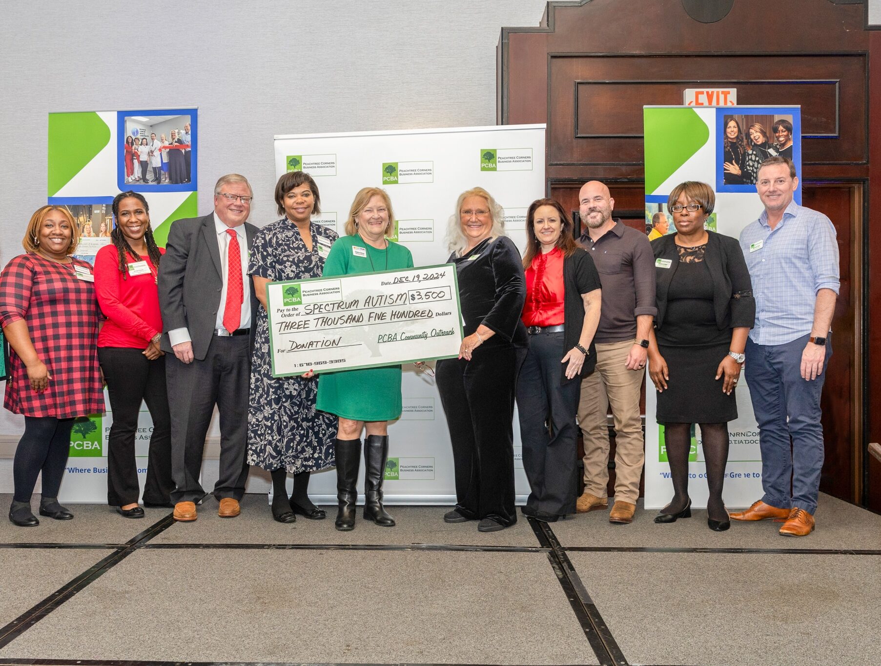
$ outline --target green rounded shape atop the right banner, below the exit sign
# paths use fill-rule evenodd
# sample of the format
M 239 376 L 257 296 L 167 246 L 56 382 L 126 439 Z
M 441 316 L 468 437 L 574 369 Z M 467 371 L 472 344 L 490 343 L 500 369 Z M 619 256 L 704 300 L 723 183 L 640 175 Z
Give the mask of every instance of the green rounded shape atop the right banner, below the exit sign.
M 710 137 L 707 123 L 692 108 L 647 108 L 646 194 L 652 194 Z

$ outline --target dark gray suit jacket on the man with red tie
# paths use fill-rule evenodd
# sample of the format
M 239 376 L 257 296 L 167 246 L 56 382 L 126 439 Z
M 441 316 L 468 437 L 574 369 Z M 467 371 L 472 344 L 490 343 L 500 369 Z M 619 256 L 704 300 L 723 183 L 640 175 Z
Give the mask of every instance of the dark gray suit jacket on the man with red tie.
M 248 249 L 254 242 L 255 233 L 257 227 L 246 222 Z M 201 218 L 172 222 L 157 280 L 162 327 L 166 331 L 187 327 L 193 342 L 193 356 L 198 360 L 204 360 L 208 353 L 221 307 L 221 266 L 213 211 Z M 257 307 L 260 307 L 260 303 L 254 293 L 254 281 L 248 275 L 242 278 L 251 300 L 250 344 L 253 350 Z M 163 333 L 159 348 L 174 353 L 167 332 Z

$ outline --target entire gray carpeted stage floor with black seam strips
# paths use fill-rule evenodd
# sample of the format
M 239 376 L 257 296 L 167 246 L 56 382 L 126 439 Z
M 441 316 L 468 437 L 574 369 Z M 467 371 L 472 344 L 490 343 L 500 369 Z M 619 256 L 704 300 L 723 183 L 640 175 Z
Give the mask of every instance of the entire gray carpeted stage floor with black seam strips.
M 234 519 L 205 499 L 191 523 L 71 508 L 0 522 L 0 666 L 881 663 L 881 516 L 827 496 L 802 539 L 641 508 L 492 534 L 444 523 L 447 507 L 389 507 L 394 528 L 337 532 L 333 507 L 283 525 L 263 495 Z

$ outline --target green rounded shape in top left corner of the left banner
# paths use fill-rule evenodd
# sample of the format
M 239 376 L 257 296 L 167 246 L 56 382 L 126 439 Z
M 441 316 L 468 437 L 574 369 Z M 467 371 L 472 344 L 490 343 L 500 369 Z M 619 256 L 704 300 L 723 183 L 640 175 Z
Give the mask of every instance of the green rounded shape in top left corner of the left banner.
M 55 196 L 110 141 L 110 128 L 92 111 L 49 114 L 48 196 Z

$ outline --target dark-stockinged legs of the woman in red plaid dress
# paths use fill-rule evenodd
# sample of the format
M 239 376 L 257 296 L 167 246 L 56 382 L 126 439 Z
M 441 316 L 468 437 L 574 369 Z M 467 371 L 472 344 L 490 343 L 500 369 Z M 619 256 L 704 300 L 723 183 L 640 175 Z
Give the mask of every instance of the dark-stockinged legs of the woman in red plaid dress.
M 15 449 L 12 478 L 17 502 L 31 501 L 37 475 L 43 473 L 43 497 L 58 497 L 70 452 L 72 418 L 25 417 L 25 433 Z

